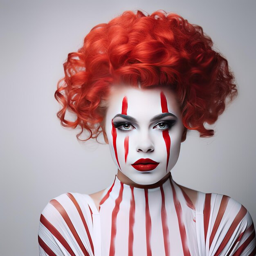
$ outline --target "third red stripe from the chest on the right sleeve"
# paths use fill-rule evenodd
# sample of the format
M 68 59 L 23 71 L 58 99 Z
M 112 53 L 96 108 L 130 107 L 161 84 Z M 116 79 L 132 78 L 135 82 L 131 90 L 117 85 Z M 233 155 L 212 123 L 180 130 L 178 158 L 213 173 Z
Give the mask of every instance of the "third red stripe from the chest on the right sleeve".
M 237 213 L 236 217 L 234 218 L 231 226 L 229 227 L 229 230 L 227 231 L 227 234 L 225 235 L 225 238 L 222 240 L 222 243 L 220 244 L 220 246 L 219 246 L 218 250 L 216 251 L 216 253 L 214 254 L 214 256 L 218 256 L 222 252 L 223 248 L 229 242 L 229 239 L 231 238 L 232 234 L 234 234 L 236 227 L 238 226 L 240 221 L 245 217 L 246 213 L 247 213 L 247 209 L 245 209 L 245 207 L 243 207 L 243 205 L 241 205 L 239 212 Z

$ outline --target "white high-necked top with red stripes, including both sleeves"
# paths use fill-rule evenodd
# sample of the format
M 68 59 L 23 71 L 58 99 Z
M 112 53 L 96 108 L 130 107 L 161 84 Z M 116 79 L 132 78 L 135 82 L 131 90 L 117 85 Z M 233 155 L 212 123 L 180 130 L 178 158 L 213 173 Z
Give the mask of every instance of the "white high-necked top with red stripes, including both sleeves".
M 40 256 L 255 256 L 249 212 L 232 198 L 198 192 L 194 206 L 171 175 L 154 189 L 115 177 L 97 210 L 89 195 L 66 193 L 40 217 Z

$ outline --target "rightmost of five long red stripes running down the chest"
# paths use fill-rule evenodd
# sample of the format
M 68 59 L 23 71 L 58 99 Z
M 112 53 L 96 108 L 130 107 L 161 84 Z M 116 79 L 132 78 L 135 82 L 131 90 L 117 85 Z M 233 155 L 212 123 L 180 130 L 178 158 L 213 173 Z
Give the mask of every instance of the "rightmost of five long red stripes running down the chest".
M 171 187 L 172 187 L 172 191 L 173 191 L 174 206 L 175 206 L 175 210 L 176 210 L 176 214 L 177 214 L 177 218 L 178 218 L 178 222 L 179 222 L 180 238 L 181 238 L 181 242 L 182 242 L 183 254 L 184 254 L 184 256 L 190 256 L 188 242 L 187 242 L 187 238 L 186 238 L 186 229 L 185 229 L 185 225 L 182 221 L 182 208 L 180 205 L 180 201 L 177 199 L 176 191 L 173 187 L 171 179 L 170 179 L 170 183 L 171 183 Z

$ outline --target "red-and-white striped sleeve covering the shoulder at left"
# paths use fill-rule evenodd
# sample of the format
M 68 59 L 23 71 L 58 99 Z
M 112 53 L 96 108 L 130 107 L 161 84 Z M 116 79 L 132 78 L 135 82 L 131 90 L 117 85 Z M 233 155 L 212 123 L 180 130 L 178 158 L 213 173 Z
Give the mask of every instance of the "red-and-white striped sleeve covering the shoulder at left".
M 43 209 L 38 229 L 39 255 L 80 255 L 71 248 L 81 247 L 82 251 L 92 251 L 92 215 L 88 195 L 64 193 L 53 198 Z M 80 237 L 88 241 L 82 245 Z M 73 254 L 72 254 L 73 253 Z M 49 255 L 51 255 L 49 254 Z

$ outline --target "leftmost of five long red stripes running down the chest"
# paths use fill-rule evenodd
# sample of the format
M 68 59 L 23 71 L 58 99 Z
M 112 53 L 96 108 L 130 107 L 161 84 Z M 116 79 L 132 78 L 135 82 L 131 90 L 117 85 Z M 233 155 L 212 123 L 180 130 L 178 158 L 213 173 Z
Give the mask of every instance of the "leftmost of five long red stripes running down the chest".
M 119 212 L 120 203 L 123 198 L 123 190 L 124 190 L 124 184 L 121 182 L 119 195 L 115 201 L 115 207 L 112 211 L 111 238 L 110 238 L 110 248 L 109 248 L 110 256 L 115 255 L 115 239 L 116 239 L 116 234 L 117 234 L 117 213 Z

